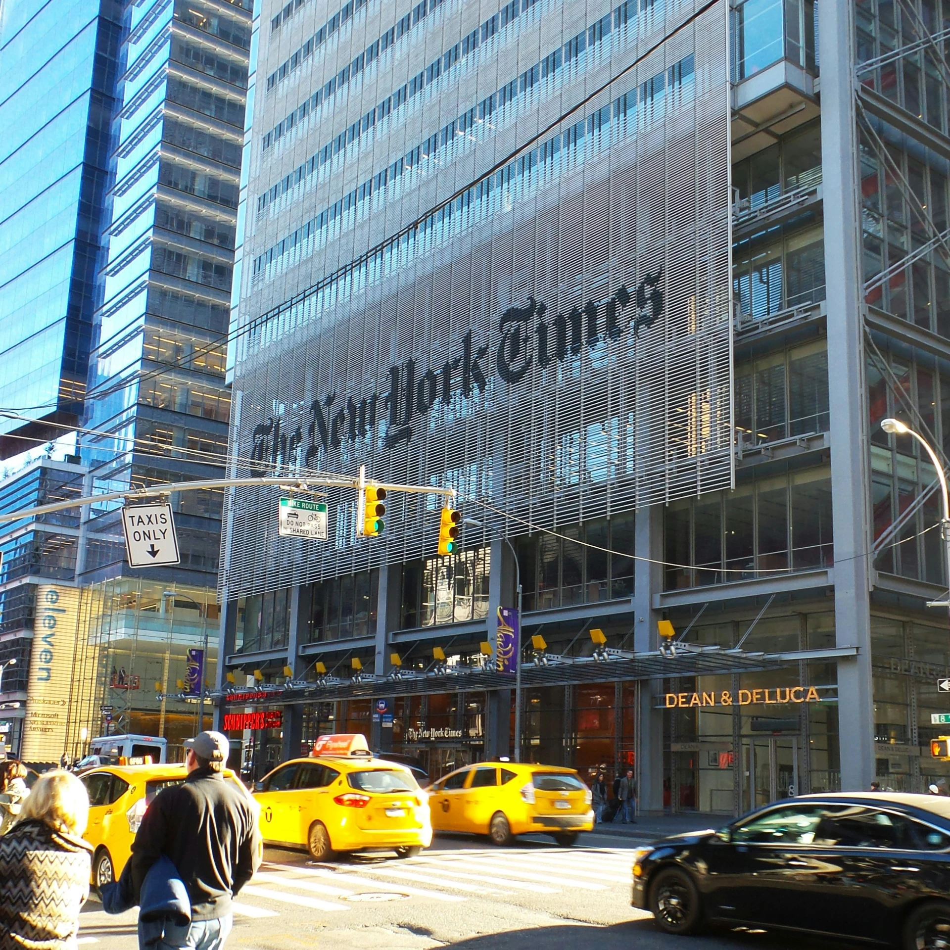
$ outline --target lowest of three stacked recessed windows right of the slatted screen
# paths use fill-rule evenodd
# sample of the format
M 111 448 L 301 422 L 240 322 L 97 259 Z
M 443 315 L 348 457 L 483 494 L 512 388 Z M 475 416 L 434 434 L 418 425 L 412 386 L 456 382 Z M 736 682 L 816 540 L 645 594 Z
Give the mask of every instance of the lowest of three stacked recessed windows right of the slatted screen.
M 827 431 L 825 340 L 769 353 L 750 363 L 739 360 L 735 368 L 735 428 L 740 447 Z

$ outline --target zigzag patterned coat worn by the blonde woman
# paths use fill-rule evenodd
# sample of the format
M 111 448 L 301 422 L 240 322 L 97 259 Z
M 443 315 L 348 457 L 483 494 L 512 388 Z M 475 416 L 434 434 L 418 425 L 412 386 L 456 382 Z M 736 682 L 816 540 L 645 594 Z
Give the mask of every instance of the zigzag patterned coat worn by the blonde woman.
M 89 896 L 85 841 L 43 822 L 0 837 L 0 950 L 72 950 Z

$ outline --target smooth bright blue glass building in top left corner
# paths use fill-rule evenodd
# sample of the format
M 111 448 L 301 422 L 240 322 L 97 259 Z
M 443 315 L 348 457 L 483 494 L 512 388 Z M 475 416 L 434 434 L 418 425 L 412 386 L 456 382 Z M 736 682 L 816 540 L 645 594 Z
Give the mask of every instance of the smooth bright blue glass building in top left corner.
M 0 10 L 0 457 L 82 416 L 120 11 Z

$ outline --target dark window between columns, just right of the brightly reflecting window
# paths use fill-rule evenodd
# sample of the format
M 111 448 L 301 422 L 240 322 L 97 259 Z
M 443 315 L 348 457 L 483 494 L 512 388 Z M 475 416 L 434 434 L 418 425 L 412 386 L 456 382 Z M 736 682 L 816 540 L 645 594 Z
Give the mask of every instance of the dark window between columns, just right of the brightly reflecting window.
M 633 512 L 564 527 L 560 534 L 516 542 L 524 610 L 633 596 Z

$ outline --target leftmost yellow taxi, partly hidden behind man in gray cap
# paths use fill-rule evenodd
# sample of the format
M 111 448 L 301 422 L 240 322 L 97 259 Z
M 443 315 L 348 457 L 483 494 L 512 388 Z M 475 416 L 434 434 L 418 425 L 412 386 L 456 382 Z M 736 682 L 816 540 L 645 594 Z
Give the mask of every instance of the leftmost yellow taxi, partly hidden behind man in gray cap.
M 164 763 L 102 766 L 79 776 L 89 795 L 89 823 L 83 837 L 93 848 L 92 883 L 102 887 L 119 880 L 145 809 L 162 788 L 180 785 L 187 774 L 183 763 Z M 224 777 L 250 797 L 231 769 L 224 769 Z

